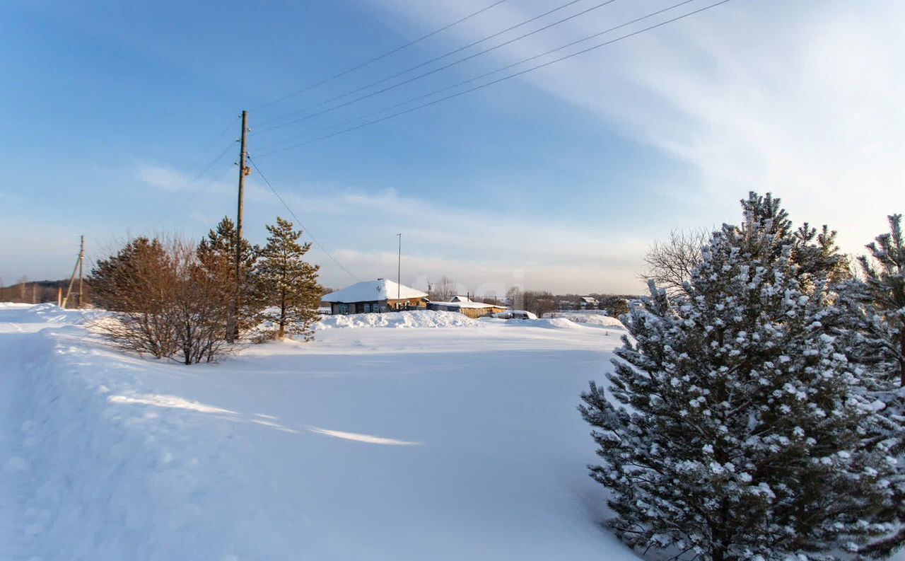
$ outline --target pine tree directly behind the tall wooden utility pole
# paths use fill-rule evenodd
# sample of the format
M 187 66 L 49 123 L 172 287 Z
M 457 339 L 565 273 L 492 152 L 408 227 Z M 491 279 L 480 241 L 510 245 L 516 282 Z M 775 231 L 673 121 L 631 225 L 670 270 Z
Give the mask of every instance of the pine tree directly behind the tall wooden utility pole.
M 235 282 L 235 224 L 224 216 L 216 225 L 216 229 L 207 233 L 207 237 L 198 243 L 195 255 L 207 274 L 217 277 L 224 287 L 224 301 L 232 302 L 236 290 Z M 233 322 L 238 323 L 239 333 L 243 333 L 256 325 L 257 315 L 261 312 L 261 301 L 255 298 L 252 274 L 254 264 L 258 260 L 260 248 L 242 239 L 240 269 L 243 281 L 239 285 L 239 311 Z M 235 328 L 236 326 L 224 326 Z M 224 335 L 224 338 L 230 338 Z

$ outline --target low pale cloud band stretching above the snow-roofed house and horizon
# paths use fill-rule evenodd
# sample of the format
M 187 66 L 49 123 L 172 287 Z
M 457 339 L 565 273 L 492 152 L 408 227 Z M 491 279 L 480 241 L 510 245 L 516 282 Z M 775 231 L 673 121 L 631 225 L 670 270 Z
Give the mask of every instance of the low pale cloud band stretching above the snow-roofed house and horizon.
M 184 183 L 181 174 L 164 166 L 142 166 L 136 174 Z M 247 185 L 247 196 L 257 203 L 259 214 L 285 214 L 255 176 Z M 204 188 L 231 193 L 234 187 L 209 182 Z M 395 234 L 402 232 L 403 281 L 420 286 L 442 275 L 471 292 L 505 292 L 513 284 L 557 291 L 619 292 L 637 291 L 641 286 L 636 275 L 648 245 L 643 238 L 600 233 L 567 221 L 535 220 L 481 204 L 437 204 L 400 196 L 392 189 L 319 193 L 302 186 L 296 193 L 281 191 L 291 208 L 316 209 L 297 214 L 337 261 L 361 279 L 395 278 L 397 254 L 390 250 L 395 248 Z M 262 205 L 267 206 L 266 213 L 260 210 Z M 205 227 L 214 222 L 206 212 L 186 212 L 195 221 L 207 219 Z M 310 241 L 310 237 L 306 239 Z M 252 242 L 263 240 L 252 238 Z M 342 286 L 352 281 L 316 245 L 311 256 L 322 266 L 324 283 Z

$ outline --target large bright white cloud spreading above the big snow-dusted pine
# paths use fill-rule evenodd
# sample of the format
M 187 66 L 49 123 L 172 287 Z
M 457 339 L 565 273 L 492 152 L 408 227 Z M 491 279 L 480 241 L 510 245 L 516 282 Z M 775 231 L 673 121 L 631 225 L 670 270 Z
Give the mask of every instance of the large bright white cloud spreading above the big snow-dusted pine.
M 430 29 L 484 3 L 378 4 L 405 16 L 401 28 Z M 607 6 L 493 52 L 491 66 L 670 4 Z M 536 1 L 510 2 L 452 28 L 448 41 L 473 41 L 544 11 Z M 882 231 L 885 214 L 905 210 L 903 25 L 900 2 L 738 0 L 518 80 L 586 109 L 602 128 L 693 166 L 697 182 L 669 185 L 663 193 L 690 206 L 713 206 L 713 222 L 734 219 L 736 201 L 748 189 L 773 191 L 793 218 L 830 223 L 843 249 L 858 251 Z M 470 72 L 479 73 L 462 70 Z M 694 225 L 676 220 L 662 231 Z

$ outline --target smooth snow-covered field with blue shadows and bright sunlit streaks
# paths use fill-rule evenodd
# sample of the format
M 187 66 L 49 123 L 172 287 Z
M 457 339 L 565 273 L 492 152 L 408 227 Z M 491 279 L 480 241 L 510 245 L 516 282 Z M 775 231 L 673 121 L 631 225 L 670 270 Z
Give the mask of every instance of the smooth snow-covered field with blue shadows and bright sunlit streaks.
M 576 412 L 623 330 L 394 316 L 186 367 L 0 304 L 0 559 L 637 558 Z

